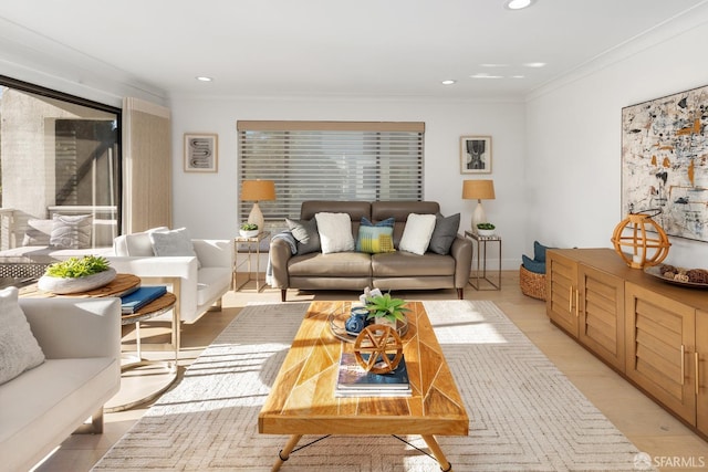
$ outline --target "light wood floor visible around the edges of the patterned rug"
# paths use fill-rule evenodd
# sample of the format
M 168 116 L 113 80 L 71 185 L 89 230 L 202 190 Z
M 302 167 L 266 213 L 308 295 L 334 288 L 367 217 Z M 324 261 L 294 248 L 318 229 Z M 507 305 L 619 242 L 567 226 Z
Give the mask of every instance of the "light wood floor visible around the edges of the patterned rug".
M 288 294 L 288 301 L 353 300 L 353 292 L 316 292 Z M 454 291 L 396 292 L 408 300 L 449 300 Z M 465 290 L 466 300 L 490 300 L 521 328 L 527 336 L 571 379 L 571 381 L 607 418 L 633 441 L 652 455 L 663 471 L 708 470 L 708 442 L 696 436 L 680 421 L 658 407 L 612 369 L 580 347 L 549 323 L 543 302 L 524 296 L 519 290 L 519 274 L 506 271 L 501 291 Z M 230 292 L 223 298 L 221 312 L 207 313 L 194 325 L 183 328 L 180 373 L 210 344 L 249 302 L 280 303 L 280 291 L 266 289 L 261 293 L 249 290 Z M 143 324 L 144 343 L 160 342 L 169 333 L 167 324 Z M 131 334 L 126 333 L 129 342 Z M 168 359 L 169 352 L 147 352 L 146 357 Z M 148 405 L 128 411 L 105 415 L 103 434 L 74 434 L 37 471 L 88 471 L 146 411 Z M 677 466 L 683 464 L 683 466 Z M 701 466 L 698 466 L 701 465 Z M 628 468 L 631 464 L 627 465 Z

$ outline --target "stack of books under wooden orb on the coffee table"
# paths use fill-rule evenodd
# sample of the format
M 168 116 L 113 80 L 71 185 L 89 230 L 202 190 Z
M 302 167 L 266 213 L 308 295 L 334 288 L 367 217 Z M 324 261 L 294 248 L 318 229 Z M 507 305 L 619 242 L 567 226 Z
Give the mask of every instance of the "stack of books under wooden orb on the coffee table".
M 363 355 L 365 357 L 366 355 Z M 353 353 L 342 353 L 335 397 L 410 397 L 406 358 L 388 374 L 364 370 Z

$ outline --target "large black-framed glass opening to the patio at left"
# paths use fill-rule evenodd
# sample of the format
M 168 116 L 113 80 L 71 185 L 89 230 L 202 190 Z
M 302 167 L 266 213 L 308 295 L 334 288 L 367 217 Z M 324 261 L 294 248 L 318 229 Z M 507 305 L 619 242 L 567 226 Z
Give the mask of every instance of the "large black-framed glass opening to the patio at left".
M 121 111 L 0 76 L 0 249 L 32 219 L 90 214 L 91 245 L 117 235 Z

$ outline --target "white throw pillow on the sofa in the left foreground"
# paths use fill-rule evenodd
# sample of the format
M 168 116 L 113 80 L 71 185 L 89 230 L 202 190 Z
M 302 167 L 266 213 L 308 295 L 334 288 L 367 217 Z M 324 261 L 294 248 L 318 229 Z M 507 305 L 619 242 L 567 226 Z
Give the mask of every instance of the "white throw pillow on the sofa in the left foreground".
M 0 290 L 0 385 L 44 361 L 44 353 L 18 303 L 18 293 L 13 286 Z

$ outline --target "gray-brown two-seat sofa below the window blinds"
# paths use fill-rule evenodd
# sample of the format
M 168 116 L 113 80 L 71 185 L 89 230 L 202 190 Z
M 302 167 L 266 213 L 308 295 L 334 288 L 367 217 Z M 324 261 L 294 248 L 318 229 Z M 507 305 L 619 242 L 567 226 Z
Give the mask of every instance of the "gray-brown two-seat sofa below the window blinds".
M 301 221 L 312 220 L 319 212 L 348 213 L 352 234 L 356 240 L 362 217 L 376 223 L 394 218 L 394 248 L 400 238 L 410 213 L 437 214 L 440 207 L 434 201 L 305 201 Z M 281 300 L 288 289 L 352 290 L 365 287 L 382 291 L 456 289 L 458 298 L 469 281 L 472 244 L 457 234 L 449 253 L 431 251 L 423 255 L 407 251 L 369 254 L 365 252 L 336 252 L 323 254 L 310 252 L 293 254 L 291 244 L 283 238 L 273 238 L 270 245 L 270 284 L 281 290 Z

